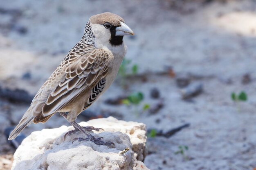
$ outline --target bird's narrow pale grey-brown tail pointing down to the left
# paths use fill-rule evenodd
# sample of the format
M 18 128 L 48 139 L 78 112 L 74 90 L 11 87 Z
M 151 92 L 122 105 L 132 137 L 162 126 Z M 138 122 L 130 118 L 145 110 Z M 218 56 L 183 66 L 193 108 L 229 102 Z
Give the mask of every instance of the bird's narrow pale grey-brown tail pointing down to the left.
M 26 115 L 26 113 L 25 113 Z M 20 132 L 25 129 L 25 127 L 33 122 L 34 117 L 32 116 L 23 116 L 23 118 L 20 120 L 19 124 L 16 126 L 15 129 L 11 132 L 9 135 L 8 140 L 14 139 Z

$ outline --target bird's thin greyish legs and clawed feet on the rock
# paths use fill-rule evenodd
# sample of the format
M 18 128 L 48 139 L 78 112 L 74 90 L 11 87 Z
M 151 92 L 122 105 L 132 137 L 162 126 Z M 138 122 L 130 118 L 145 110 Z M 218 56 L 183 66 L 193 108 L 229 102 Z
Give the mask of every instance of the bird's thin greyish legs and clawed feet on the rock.
M 60 115 L 63 116 L 65 119 L 67 119 L 67 114 L 66 114 L 66 113 L 60 112 Z M 69 121 L 69 122 L 70 122 L 70 121 Z M 107 145 L 107 146 L 115 145 L 113 142 L 104 142 L 104 141 L 102 141 L 101 139 L 102 139 L 103 137 L 98 137 L 98 138 L 94 137 L 93 135 L 91 135 L 91 134 L 86 130 L 86 129 L 88 129 L 89 131 L 91 131 L 91 130 L 99 131 L 99 130 L 100 130 L 99 128 L 94 128 L 94 127 L 92 127 L 92 126 L 85 126 L 85 128 L 84 128 L 83 126 L 80 126 L 80 125 L 79 125 L 78 123 L 76 123 L 75 121 L 70 122 L 70 124 L 72 124 L 72 126 L 74 126 L 74 128 L 75 128 L 75 130 L 73 130 L 74 132 L 72 132 L 72 133 L 75 133 L 77 130 L 79 130 L 79 131 L 83 132 L 83 133 L 86 135 L 86 137 L 77 137 L 77 138 L 75 138 L 75 139 L 73 140 L 73 142 L 74 142 L 75 140 L 78 140 L 79 142 L 80 142 L 80 141 L 88 141 L 88 140 L 90 140 L 90 141 L 94 142 L 94 143 L 97 144 L 97 145 Z M 67 133 L 69 133 L 69 132 L 67 132 Z M 65 136 L 67 135 L 67 133 L 65 134 Z M 72 134 L 72 133 L 70 133 L 70 134 Z M 64 136 L 64 137 L 65 137 L 65 136 Z

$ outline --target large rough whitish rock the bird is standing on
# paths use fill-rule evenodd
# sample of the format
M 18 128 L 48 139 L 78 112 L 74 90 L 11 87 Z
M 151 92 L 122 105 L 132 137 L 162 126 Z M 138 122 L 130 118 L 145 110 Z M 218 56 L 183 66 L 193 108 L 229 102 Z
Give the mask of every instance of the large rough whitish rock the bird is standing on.
M 43 129 L 31 133 L 16 150 L 12 170 L 147 170 L 143 161 L 146 156 L 146 126 L 137 122 L 125 122 L 113 117 L 81 122 L 82 126 L 103 128 L 93 133 L 115 146 L 99 146 L 91 141 L 72 144 L 82 133 L 67 136 L 72 126 Z M 130 148 L 123 155 L 120 151 Z

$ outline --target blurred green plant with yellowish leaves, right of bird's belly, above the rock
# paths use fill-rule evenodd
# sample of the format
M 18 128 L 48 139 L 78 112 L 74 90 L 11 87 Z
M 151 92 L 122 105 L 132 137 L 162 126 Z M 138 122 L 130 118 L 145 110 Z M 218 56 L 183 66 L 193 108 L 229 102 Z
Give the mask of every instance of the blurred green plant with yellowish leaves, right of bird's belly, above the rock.
M 144 99 L 144 95 L 141 92 L 135 92 L 130 94 L 126 99 L 122 100 L 122 103 L 124 105 L 130 106 L 133 105 L 135 106 L 135 113 L 138 115 L 138 106 L 140 105 L 141 101 Z M 144 104 L 142 110 L 146 111 L 150 108 L 149 104 Z

